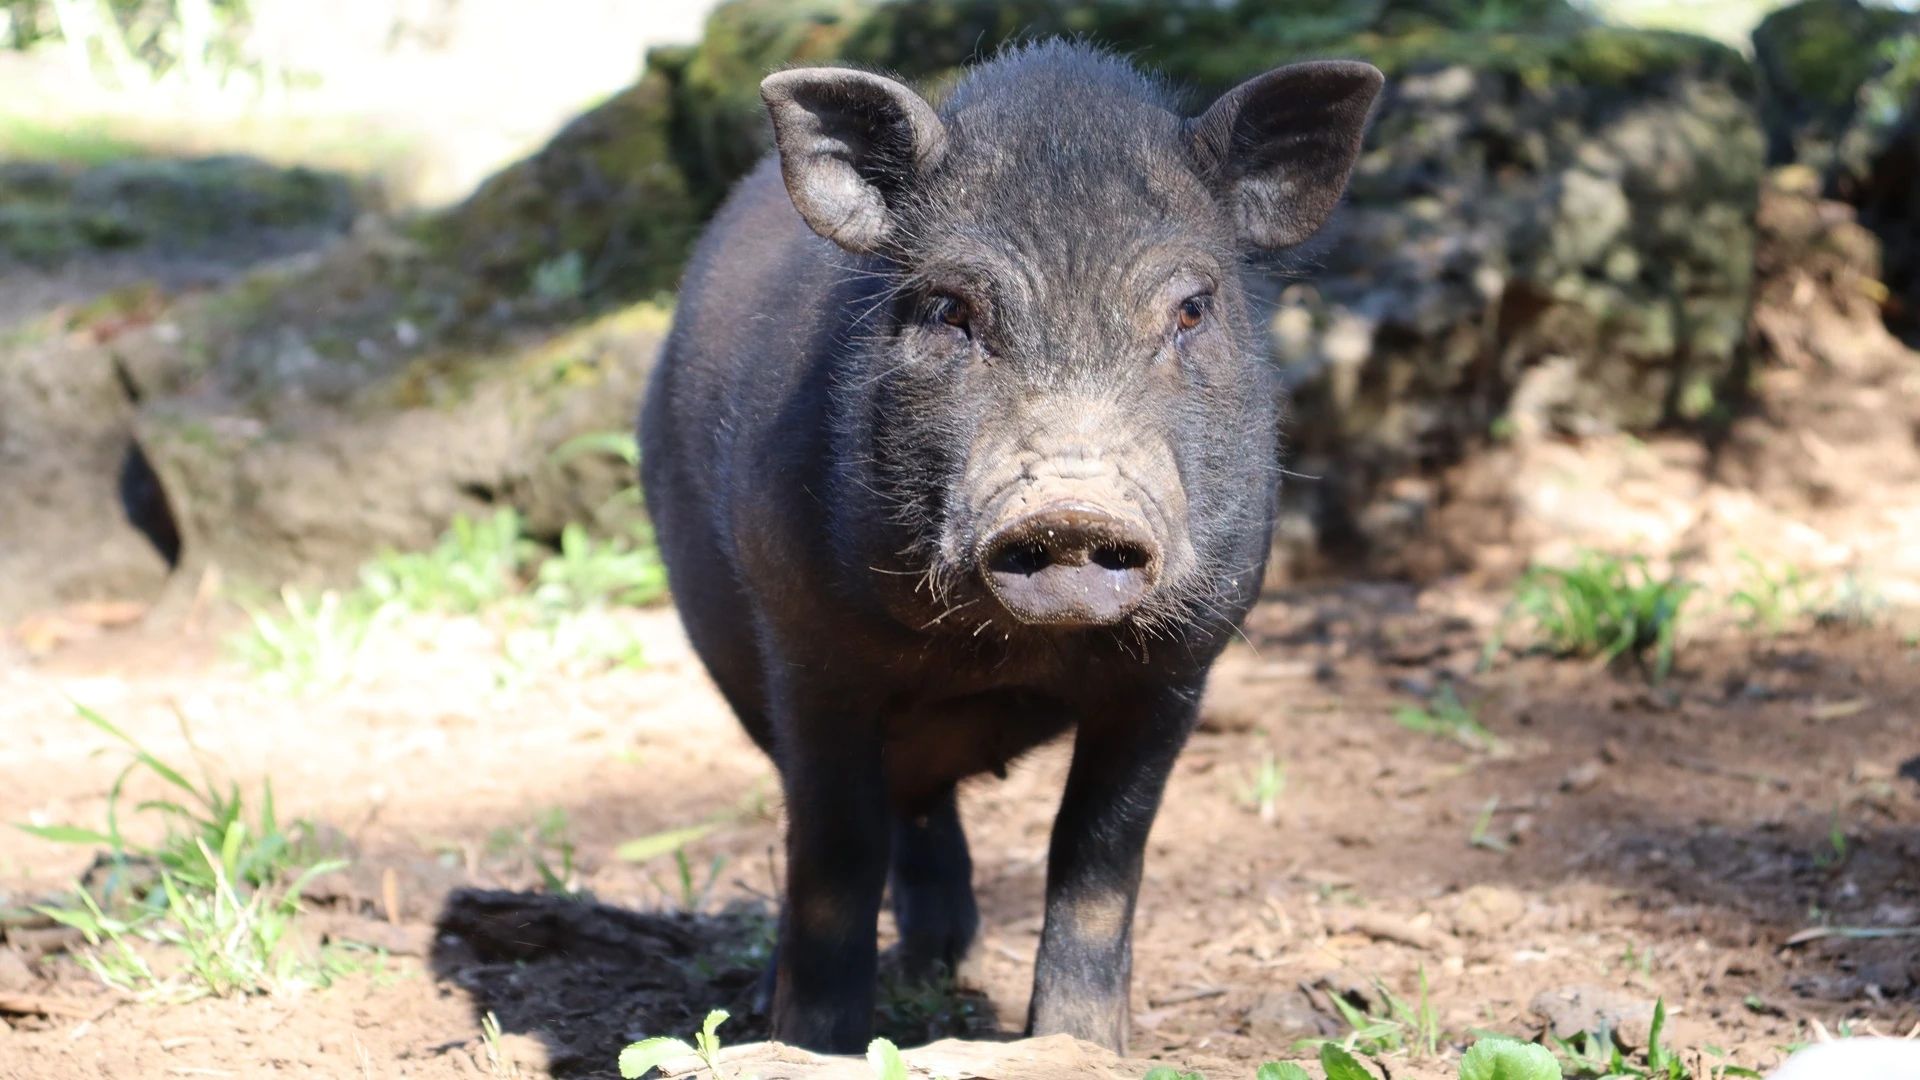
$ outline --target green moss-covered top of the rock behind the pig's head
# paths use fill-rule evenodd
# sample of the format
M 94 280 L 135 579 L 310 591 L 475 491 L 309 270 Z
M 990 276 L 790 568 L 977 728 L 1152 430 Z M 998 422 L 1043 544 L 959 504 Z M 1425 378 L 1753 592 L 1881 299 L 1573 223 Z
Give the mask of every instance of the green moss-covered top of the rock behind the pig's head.
M 1732 50 L 1590 25 L 1565 0 L 732 0 L 695 46 L 657 48 L 641 81 L 582 115 L 419 234 L 493 296 L 578 263 L 588 306 L 670 290 L 728 188 L 766 154 L 760 79 L 860 63 L 929 88 L 996 48 L 1073 35 L 1123 50 L 1194 104 L 1277 63 L 1344 56 L 1390 75 L 1471 65 L 1551 90 L 1653 92 L 1680 79 L 1751 88 Z

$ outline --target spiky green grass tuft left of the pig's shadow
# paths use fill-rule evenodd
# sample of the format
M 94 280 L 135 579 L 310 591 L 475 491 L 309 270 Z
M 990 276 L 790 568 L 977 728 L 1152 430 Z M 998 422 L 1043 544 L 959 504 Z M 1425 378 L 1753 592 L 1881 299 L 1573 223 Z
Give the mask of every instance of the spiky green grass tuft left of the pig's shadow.
M 104 984 L 156 1001 L 328 984 L 326 965 L 303 955 L 290 936 L 301 890 L 346 865 L 324 857 L 313 824 L 282 828 L 271 784 L 261 784 L 259 809 L 250 815 L 238 784 L 221 790 L 202 773 L 196 786 L 100 713 L 84 705 L 75 711 L 132 751 L 108 794 L 108 830 L 19 828 L 60 844 L 108 847 L 106 876 L 94 890 L 77 886 L 69 903 L 38 909 L 84 934 L 81 963 Z M 180 734 L 192 746 L 184 719 Z M 175 792 L 134 807 L 165 822 L 157 847 L 132 846 L 121 832 L 121 792 L 142 769 Z M 177 965 L 156 969 L 148 945 L 171 945 L 167 959 Z

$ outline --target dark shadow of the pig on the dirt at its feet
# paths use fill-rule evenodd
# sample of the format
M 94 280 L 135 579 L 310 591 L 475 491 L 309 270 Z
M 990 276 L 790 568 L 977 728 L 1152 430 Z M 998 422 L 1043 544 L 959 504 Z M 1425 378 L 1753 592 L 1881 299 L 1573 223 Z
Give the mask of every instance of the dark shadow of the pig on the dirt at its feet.
M 772 949 L 764 909 L 639 913 L 547 894 L 459 890 L 434 926 L 432 967 L 472 995 L 478 1017 L 538 1038 L 564 1078 L 618 1076 L 620 1049 L 651 1036 L 689 1040 L 712 1009 L 722 1043 L 768 1038 L 755 1009 Z M 881 980 L 879 1034 L 914 1045 L 996 1030 L 991 1003 Z

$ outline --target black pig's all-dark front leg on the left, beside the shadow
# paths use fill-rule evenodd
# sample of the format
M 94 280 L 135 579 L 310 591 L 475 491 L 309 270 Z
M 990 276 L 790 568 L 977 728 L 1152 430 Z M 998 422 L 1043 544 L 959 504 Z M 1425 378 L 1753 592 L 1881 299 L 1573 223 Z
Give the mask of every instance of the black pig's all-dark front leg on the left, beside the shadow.
M 874 713 L 847 694 L 787 686 L 776 717 L 787 794 L 774 1038 L 860 1053 L 874 1036 L 879 897 L 889 813 Z

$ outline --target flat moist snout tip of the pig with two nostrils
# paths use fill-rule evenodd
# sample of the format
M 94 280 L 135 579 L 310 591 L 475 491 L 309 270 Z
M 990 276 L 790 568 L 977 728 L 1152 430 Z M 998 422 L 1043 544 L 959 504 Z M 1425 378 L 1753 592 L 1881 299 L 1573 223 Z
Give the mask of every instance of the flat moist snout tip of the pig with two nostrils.
M 1016 619 L 1106 626 L 1140 605 L 1160 578 L 1146 525 L 1094 505 L 1052 505 L 1018 517 L 981 544 L 987 586 Z

